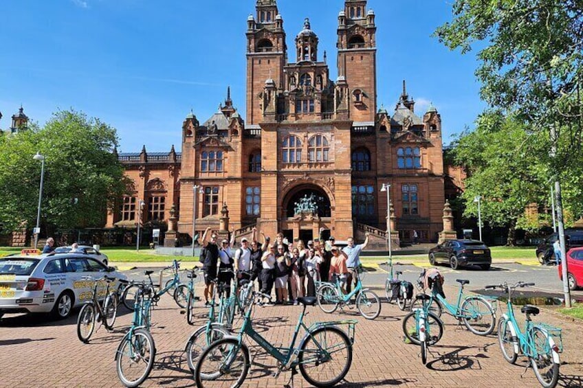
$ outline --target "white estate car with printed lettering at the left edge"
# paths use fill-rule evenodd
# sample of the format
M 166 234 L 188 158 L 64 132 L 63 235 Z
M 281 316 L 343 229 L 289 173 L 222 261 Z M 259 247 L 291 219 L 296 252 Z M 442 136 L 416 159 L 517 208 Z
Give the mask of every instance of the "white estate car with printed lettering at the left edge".
M 10 312 L 52 312 L 63 319 L 93 295 L 94 282 L 103 275 L 126 276 L 83 253 L 12 255 L 0 258 L 0 318 Z M 115 281 L 110 288 L 118 288 Z M 98 286 L 98 295 L 104 284 Z M 103 295 L 104 296 L 104 295 Z

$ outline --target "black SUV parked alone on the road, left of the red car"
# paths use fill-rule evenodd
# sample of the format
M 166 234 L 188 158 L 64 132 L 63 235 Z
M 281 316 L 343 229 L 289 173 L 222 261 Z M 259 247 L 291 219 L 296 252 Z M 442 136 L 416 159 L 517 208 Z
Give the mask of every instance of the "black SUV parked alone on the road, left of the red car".
M 492 265 L 492 254 L 486 245 L 478 240 L 445 240 L 429 250 L 431 265 L 445 263 L 452 269 L 478 264 L 487 270 Z

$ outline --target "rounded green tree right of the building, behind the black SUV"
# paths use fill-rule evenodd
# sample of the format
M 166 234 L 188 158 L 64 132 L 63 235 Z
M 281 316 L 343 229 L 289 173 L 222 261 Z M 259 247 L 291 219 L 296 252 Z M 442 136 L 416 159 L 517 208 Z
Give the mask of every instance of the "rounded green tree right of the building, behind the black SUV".
M 524 224 L 525 207 L 546 203 L 548 192 L 544 165 L 536 157 L 544 144 L 529 137 L 516 117 L 489 111 L 478 117 L 474 131 L 465 131 L 454 143 L 455 163 L 467 172 L 464 216 L 478 216 L 474 197 L 481 196 L 483 222 L 509 227 L 510 245 L 516 226 Z

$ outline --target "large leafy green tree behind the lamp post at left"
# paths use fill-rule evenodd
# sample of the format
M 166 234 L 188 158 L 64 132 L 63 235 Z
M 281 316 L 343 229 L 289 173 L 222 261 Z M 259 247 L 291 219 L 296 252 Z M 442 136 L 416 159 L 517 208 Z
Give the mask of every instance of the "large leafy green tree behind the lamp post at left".
M 41 225 L 101 227 L 108 204 L 125 190 L 123 169 L 112 150 L 115 128 L 76 111 L 58 111 L 39 129 L 0 139 L 0 222 L 5 231 L 36 225 L 41 163 L 45 157 Z

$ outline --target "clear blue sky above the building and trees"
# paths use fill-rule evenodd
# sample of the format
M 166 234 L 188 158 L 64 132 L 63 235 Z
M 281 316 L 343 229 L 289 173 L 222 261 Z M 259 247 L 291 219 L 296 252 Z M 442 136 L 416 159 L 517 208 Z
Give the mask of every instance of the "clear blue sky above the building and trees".
M 3 1 L 0 128 L 22 104 L 43 125 L 73 108 L 118 129 L 120 152 L 179 149 L 192 109 L 200 122 L 225 99 L 245 116 L 245 31 L 255 0 Z M 443 143 L 473 127 L 484 104 L 474 54 L 430 35 L 451 19 L 451 0 L 369 0 L 376 14 L 379 105 L 391 113 L 406 80 L 422 115 L 429 102 Z M 343 0 L 279 0 L 288 49 L 309 17 L 336 80 L 336 27 Z M 295 60 L 293 50 L 289 60 Z

